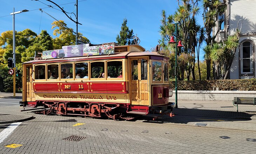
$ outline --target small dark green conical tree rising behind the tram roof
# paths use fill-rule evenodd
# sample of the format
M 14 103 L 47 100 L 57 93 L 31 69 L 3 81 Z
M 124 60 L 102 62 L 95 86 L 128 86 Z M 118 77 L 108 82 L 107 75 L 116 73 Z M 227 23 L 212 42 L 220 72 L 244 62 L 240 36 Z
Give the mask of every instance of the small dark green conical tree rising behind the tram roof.
M 117 44 L 119 45 L 130 45 L 135 44 L 133 41 L 133 29 L 129 30 L 129 27 L 127 27 L 127 19 L 123 19 L 123 23 L 121 26 L 121 31 L 116 36 Z

